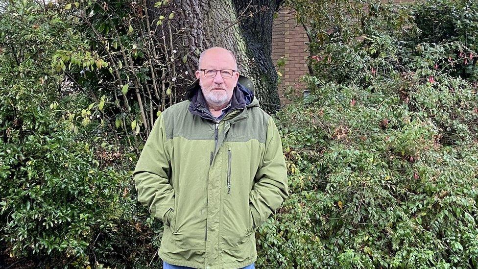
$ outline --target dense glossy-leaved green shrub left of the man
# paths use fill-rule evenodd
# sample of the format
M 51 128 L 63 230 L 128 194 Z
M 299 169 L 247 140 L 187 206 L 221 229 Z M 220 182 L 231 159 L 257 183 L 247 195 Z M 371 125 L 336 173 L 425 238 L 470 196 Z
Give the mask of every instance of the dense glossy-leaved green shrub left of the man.
M 135 158 L 103 131 L 107 100 L 64 95 L 71 55 L 99 61 L 64 19 L 32 1 L 10 2 L 0 17 L 0 257 L 146 265 L 156 249 L 127 172 Z

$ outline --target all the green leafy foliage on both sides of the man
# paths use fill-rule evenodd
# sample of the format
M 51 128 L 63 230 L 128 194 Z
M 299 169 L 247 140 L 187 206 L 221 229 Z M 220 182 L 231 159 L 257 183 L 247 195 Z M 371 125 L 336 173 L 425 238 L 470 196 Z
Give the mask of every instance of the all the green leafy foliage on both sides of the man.
M 291 196 L 256 266 L 477 268 L 478 4 L 284 4 L 308 27 L 312 94 L 275 115 Z M 0 15 L 0 266 L 161 266 L 131 170 L 178 85 L 142 8 Z

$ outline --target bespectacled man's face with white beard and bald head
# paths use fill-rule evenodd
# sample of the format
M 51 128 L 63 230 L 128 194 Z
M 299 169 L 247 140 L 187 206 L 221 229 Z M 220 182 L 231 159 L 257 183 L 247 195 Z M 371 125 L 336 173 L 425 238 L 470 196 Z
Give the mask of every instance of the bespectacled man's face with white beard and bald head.
M 237 70 L 233 56 L 225 49 L 215 48 L 208 50 L 201 58 L 199 69 Z M 231 100 L 234 87 L 239 79 L 239 73 L 233 72 L 232 77 L 223 78 L 221 72 L 216 72 L 214 77 L 206 77 L 204 71 L 196 71 L 202 94 L 209 106 L 223 107 Z

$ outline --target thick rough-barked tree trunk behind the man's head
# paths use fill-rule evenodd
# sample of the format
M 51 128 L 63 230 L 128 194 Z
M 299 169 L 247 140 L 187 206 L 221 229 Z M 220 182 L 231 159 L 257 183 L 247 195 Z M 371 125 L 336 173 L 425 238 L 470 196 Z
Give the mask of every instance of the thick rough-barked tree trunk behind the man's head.
M 165 11 L 174 12 L 170 27 L 177 34 L 172 35 L 172 45 L 178 53 L 188 54 L 186 63 L 175 63 L 177 73 L 184 77 L 176 83 L 179 98 L 184 99 L 184 87 L 179 85 L 194 79 L 197 52 L 220 46 L 236 54 L 239 72 L 254 82 L 261 106 L 268 112 L 280 108 L 271 43 L 273 15 L 282 0 L 171 0 L 167 10 L 154 8 L 155 0 L 148 1 L 156 11 L 151 12 L 151 20 Z

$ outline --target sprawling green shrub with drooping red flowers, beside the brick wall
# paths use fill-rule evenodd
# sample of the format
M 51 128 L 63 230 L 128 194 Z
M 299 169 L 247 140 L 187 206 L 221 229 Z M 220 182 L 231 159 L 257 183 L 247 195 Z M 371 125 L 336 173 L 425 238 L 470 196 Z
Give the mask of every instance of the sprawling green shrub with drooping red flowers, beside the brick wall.
M 400 12 L 435 4 L 462 2 Z M 460 76 L 476 72 L 477 51 L 369 16 L 362 39 L 311 45 L 312 94 L 277 115 L 291 197 L 259 229 L 258 264 L 477 268 L 477 81 Z

